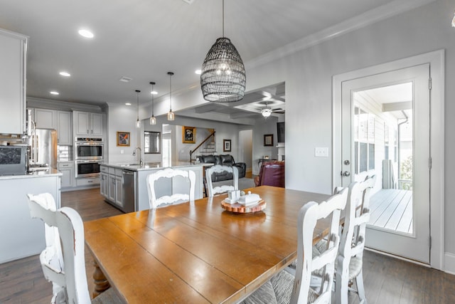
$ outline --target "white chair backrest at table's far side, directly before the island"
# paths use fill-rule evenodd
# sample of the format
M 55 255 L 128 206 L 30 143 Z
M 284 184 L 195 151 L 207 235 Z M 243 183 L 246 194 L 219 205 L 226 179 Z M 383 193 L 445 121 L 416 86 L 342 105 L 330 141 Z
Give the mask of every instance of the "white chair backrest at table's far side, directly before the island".
M 186 193 L 173 193 L 171 195 L 156 197 L 155 192 L 155 182 L 161 178 L 173 179 L 173 177 L 183 177 L 189 181 L 190 187 L 189 192 Z M 151 173 L 147 176 L 147 190 L 149 192 L 149 204 L 150 209 L 156 209 L 156 207 L 162 204 L 174 204 L 177 201 L 194 201 L 194 191 L 196 183 L 196 174 L 192 170 L 178 170 L 166 168 L 154 173 Z M 173 188 L 171 186 L 171 188 Z

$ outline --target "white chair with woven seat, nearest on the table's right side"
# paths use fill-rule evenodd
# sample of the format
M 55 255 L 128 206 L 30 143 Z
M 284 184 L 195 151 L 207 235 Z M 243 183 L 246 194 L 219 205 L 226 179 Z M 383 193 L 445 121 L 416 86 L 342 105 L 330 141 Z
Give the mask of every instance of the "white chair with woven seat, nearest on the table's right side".
M 284 270 L 243 301 L 252 303 L 331 303 L 335 260 L 338 256 L 341 210 L 345 208 L 348 189 L 334 194 L 320 204 L 306 203 L 297 217 L 297 265 L 295 276 Z M 331 217 L 327 248 L 313 254 L 313 234 L 319 219 Z M 313 272 L 321 272 L 318 286 L 311 284 Z

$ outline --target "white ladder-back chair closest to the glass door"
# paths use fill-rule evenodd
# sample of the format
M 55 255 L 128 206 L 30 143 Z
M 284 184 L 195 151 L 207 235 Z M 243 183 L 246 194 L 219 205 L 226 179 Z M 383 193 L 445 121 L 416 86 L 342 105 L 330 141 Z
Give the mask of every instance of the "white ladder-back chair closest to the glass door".
M 367 303 L 363 286 L 363 249 L 365 231 L 370 221 L 370 191 L 376 176 L 367 177 L 363 182 L 349 186 L 346 216 L 341 234 L 338 261 L 336 265 L 336 303 L 348 303 L 348 291 L 358 295 L 360 303 Z M 350 288 L 355 281 L 357 290 Z

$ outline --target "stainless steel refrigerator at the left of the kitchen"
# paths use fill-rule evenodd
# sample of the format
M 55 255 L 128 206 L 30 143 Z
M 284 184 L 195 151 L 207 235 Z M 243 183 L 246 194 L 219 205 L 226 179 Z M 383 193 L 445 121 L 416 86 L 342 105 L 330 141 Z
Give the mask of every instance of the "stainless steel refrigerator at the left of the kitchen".
M 30 164 L 48 164 L 57 169 L 57 131 L 36 129 L 31 137 Z

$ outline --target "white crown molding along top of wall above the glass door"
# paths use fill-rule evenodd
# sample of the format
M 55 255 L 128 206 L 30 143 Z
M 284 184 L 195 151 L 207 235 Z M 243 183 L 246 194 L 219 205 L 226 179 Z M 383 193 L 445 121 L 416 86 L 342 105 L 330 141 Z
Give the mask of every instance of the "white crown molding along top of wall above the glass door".
M 366 11 L 363 14 L 355 16 L 346 21 L 331 26 L 329 28 L 323 29 L 317 33 L 311 34 L 304 38 L 301 38 L 297 41 L 277 48 L 274 51 L 270 51 L 262 56 L 254 58 L 247 63 L 245 63 L 245 68 L 256 68 L 259 65 L 275 61 L 279 58 L 289 56 L 297 51 L 302 51 L 305 48 L 315 46 L 316 44 L 323 43 L 332 38 L 342 36 L 351 31 L 355 31 L 358 28 L 363 28 L 370 24 L 388 19 L 392 16 L 402 14 L 406 11 L 416 9 L 419 6 L 424 6 L 426 4 L 432 3 L 436 0 L 395 0 L 383 6 L 380 6 L 376 9 Z

